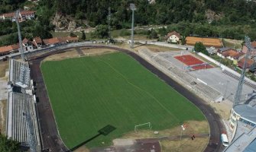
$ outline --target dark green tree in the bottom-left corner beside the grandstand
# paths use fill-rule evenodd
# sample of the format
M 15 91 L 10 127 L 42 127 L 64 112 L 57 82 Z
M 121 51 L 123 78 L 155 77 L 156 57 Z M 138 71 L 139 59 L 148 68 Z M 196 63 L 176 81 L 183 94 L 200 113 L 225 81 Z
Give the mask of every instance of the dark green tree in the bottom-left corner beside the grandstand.
M 5 135 L 0 134 L 0 151 L 2 152 L 21 152 L 20 143 L 8 139 Z

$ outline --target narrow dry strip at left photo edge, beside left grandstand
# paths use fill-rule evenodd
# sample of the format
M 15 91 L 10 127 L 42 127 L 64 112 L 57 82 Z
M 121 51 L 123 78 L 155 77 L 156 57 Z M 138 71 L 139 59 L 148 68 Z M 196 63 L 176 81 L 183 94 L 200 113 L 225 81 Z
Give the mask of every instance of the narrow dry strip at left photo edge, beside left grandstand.
M 6 128 L 7 100 L 0 101 L 0 131 L 5 134 Z

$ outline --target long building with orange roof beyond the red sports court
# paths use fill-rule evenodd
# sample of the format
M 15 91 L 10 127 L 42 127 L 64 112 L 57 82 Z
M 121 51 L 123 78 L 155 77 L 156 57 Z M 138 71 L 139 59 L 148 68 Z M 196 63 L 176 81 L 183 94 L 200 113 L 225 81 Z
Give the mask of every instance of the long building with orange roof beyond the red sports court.
M 222 41 L 217 38 L 202 38 L 202 37 L 194 37 L 194 36 L 186 37 L 186 45 L 194 46 L 198 42 L 203 43 L 203 45 L 207 47 L 211 47 L 211 46 L 214 46 L 215 48 L 222 47 Z

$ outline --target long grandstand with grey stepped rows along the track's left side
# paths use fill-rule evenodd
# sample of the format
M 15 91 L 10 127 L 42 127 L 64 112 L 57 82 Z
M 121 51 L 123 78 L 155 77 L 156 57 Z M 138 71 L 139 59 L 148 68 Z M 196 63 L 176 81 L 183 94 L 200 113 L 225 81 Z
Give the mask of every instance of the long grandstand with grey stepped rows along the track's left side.
M 9 90 L 7 112 L 7 135 L 21 143 L 22 147 L 30 147 L 34 143 L 36 151 L 41 150 L 37 125 L 37 112 L 32 94 L 31 81 L 24 89 L 16 83 L 19 80 L 21 66 L 28 68 L 28 63 L 11 59 L 9 62 Z M 31 120 L 31 121 L 30 121 Z

